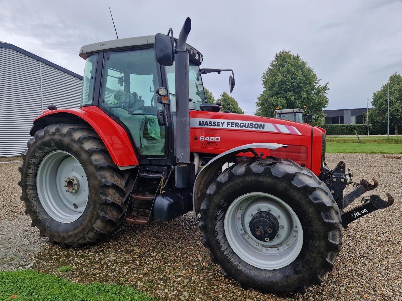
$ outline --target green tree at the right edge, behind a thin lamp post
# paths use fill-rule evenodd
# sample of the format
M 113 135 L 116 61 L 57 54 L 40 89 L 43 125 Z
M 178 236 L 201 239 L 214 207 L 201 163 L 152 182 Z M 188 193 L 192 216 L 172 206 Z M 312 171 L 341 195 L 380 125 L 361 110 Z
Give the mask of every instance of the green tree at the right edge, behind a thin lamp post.
M 402 76 L 394 73 L 390 76 L 390 132 L 392 128 L 398 135 L 398 127 L 402 126 Z M 373 93 L 371 104 L 375 107 L 369 110 L 369 123 L 375 130 L 387 132 L 388 122 L 388 83 Z

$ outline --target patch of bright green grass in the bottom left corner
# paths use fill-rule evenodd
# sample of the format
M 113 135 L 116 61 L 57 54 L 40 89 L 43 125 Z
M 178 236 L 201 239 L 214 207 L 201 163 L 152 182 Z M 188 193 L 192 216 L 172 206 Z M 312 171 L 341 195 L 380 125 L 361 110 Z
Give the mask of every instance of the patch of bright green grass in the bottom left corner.
M 151 301 L 129 286 L 72 283 L 34 270 L 0 272 L 0 300 L 24 301 Z

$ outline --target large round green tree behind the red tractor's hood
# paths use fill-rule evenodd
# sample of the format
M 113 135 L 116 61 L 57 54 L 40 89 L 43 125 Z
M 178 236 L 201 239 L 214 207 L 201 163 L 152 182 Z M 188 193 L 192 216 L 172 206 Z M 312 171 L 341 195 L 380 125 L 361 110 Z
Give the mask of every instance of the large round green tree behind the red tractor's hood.
M 328 106 L 328 83 L 320 85 L 314 70 L 299 54 L 282 50 L 275 54 L 262 75 L 263 93 L 257 98 L 256 115 L 273 117 L 275 108 L 293 109 L 307 106 L 316 115 L 315 125 L 322 124 L 324 108 Z

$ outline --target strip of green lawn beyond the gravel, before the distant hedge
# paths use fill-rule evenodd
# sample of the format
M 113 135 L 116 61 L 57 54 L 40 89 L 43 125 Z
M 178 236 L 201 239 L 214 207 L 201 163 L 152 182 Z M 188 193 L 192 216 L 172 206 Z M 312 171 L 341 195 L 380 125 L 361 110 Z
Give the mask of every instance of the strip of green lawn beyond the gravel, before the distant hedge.
M 327 153 L 402 154 L 402 136 L 362 136 L 361 143 L 353 136 L 328 136 Z

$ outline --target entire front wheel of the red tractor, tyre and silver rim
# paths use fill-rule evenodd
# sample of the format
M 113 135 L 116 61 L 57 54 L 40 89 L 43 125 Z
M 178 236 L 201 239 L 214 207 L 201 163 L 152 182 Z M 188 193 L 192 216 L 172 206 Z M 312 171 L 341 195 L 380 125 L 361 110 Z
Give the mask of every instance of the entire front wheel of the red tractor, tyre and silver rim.
M 253 200 L 250 195 L 256 195 L 256 199 Z M 249 202 L 237 205 L 236 202 L 239 199 L 242 201 L 242 197 Z M 254 234 L 261 232 L 250 232 L 254 233 L 254 237 L 249 232 L 243 233 L 252 231 L 251 226 L 247 225 L 249 214 L 244 212 L 253 202 L 256 202 L 254 207 L 258 207 L 254 208 L 259 214 L 258 218 L 263 212 L 265 216 L 269 216 L 269 204 L 279 208 L 283 206 L 282 213 L 289 215 L 289 218 L 285 223 L 284 216 L 277 218 L 279 225 L 285 224 L 285 229 L 290 225 L 294 230 L 300 222 L 302 232 L 290 232 L 289 238 L 285 240 L 275 234 L 274 237 L 269 237 L 269 242 L 256 240 Z M 287 205 L 281 205 L 281 202 Z M 238 206 L 238 211 L 231 215 L 232 203 Z M 273 213 L 274 211 L 272 209 Z M 296 218 L 292 218 L 292 214 Z M 278 216 L 277 213 L 275 215 Z M 228 216 L 238 220 L 238 230 L 232 229 L 235 227 L 228 228 Z M 273 220 L 275 218 L 268 221 Z M 259 222 L 258 219 L 256 222 Z M 201 206 L 199 224 L 203 232 L 203 244 L 210 250 L 212 262 L 219 264 L 225 275 L 236 279 L 242 287 L 283 294 L 289 291 L 305 293 L 306 288 L 312 284 L 320 284 L 324 275 L 332 270 L 342 244 L 340 223 L 339 208 L 332 194 L 312 171 L 290 160 L 269 157 L 249 159 L 222 172 L 207 190 Z M 253 225 L 253 222 L 250 221 L 250 224 Z M 283 233 L 284 236 L 285 232 L 280 231 L 285 229 L 279 229 L 276 233 Z M 281 255 L 275 257 L 269 253 L 276 248 L 278 252 L 279 248 L 289 248 L 288 242 L 292 247 L 292 239 L 296 234 L 302 237 L 301 247 L 294 240 L 295 247 L 288 253 L 281 253 L 283 256 L 290 256 L 290 260 L 281 262 Z M 279 244 L 273 247 L 278 240 Z M 250 241 L 252 245 L 249 244 Z M 259 245 L 258 248 L 263 246 L 261 252 L 259 249 L 255 252 L 256 245 Z M 239 251 L 239 246 L 244 250 Z M 254 258 L 253 252 L 256 254 Z

